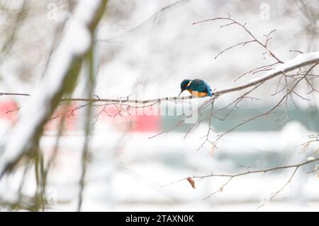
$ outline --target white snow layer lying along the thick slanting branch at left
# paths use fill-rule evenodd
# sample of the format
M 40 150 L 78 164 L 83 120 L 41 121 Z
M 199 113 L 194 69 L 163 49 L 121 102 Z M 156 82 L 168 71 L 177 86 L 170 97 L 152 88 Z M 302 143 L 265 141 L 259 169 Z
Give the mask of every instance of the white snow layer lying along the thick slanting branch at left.
M 20 120 L 6 140 L 0 159 L 0 174 L 4 167 L 18 158 L 33 138 L 33 133 L 49 110 L 48 104 L 62 85 L 72 59 L 82 55 L 90 46 L 91 37 L 87 25 L 94 18 L 99 0 L 79 1 L 71 21 L 67 23 L 65 35 L 50 61 L 47 74 L 36 87 L 30 104 L 20 111 Z

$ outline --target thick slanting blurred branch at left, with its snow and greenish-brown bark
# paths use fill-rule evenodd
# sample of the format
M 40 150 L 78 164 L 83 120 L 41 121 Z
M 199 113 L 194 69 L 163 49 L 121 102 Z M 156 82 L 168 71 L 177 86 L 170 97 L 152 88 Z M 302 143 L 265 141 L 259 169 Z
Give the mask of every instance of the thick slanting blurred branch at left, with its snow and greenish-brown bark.
M 48 64 L 43 81 L 35 89 L 30 103 L 6 140 L 0 158 L 0 177 L 14 166 L 30 146 L 37 147 L 43 126 L 60 99 L 72 94 L 82 58 L 91 47 L 92 33 L 105 6 L 105 0 L 78 1 L 74 15 L 65 28 L 65 35 Z

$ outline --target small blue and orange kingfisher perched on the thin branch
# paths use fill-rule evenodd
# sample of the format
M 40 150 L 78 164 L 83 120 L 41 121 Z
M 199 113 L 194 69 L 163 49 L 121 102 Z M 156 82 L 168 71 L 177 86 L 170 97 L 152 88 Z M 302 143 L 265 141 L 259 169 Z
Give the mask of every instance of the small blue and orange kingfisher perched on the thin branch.
M 179 96 L 185 90 L 189 91 L 192 96 L 196 97 L 213 95 L 211 93 L 211 86 L 209 86 L 206 81 L 203 81 L 202 79 L 184 79 L 181 81 L 181 92 L 179 93 Z

